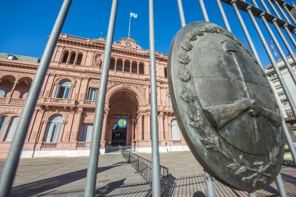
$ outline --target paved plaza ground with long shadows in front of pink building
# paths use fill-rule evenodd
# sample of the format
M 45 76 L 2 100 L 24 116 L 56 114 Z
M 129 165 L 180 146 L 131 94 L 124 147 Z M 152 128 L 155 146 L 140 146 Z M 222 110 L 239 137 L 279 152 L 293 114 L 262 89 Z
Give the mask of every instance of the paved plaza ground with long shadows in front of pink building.
M 150 160 L 150 154 L 139 153 Z M 21 159 L 12 197 L 82 197 L 88 158 Z M 169 168 L 170 196 L 206 197 L 203 169 L 191 152 L 160 153 L 160 163 Z M 0 160 L 2 170 L 4 160 Z M 150 197 L 151 188 L 121 154 L 101 155 L 97 176 L 98 197 Z M 282 177 L 289 197 L 296 197 L 296 169 L 285 167 Z M 247 197 L 214 180 L 217 197 Z M 278 196 L 275 183 L 260 190 L 258 197 Z

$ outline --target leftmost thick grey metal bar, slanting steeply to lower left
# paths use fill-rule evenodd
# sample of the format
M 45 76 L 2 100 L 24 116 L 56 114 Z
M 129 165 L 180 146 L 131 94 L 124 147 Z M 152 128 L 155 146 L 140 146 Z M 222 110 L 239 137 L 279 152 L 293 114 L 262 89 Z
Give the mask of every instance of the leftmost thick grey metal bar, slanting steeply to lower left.
M 64 22 L 66 20 L 68 11 L 70 9 L 72 0 L 64 0 L 58 17 L 50 33 L 50 37 L 45 46 L 44 52 L 40 64 L 37 68 L 36 75 L 34 77 L 33 84 L 30 87 L 26 103 L 21 114 L 19 124 L 16 128 L 8 157 L 5 161 L 4 167 L 2 169 L 2 174 L 0 178 L 0 197 L 9 197 L 10 190 L 13 184 L 17 166 L 19 163 L 20 155 L 24 146 L 26 134 L 31 123 L 31 118 L 36 107 L 37 99 L 40 94 L 41 86 L 44 82 L 44 78 L 56 47 L 59 35 L 62 31 Z

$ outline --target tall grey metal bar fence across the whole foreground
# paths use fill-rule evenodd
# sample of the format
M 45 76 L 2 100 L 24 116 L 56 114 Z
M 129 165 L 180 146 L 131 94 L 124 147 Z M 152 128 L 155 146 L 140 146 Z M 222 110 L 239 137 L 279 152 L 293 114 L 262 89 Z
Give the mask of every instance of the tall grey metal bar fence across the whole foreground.
M 159 179 L 159 152 L 158 152 L 158 124 L 157 124 L 157 99 L 156 99 L 156 69 L 155 69 L 155 46 L 154 46 L 154 13 L 153 13 L 153 0 L 149 1 L 149 48 L 150 48 L 150 87 L 151 87 L 151 139 L 152 139 L 152 195 L 153 197 L 160 196 L 160 179 Z M 182 27 L 185 26 L 185 16 L 182 6 L 182 0 L 177 0 L 179 6 L 179 13 L 181 18 L 181 25 Z M 258 35 L 263 44 L 263 47 L 267 53 L 267 56 L 275 70 L 276 75 L 279 78 L 279 81 L 284 89 L 284 92 L 287 96 L 287 99 L 290 103 L 292 111 L 296 114 L 296 105 L 291 97 L 291 94 L 287 88 L 287 85 L 283 79 L 283 76 L 280 72 L 280 69 L 276 65 L 276 61 L 272 55 L 271 50 L 268 47 L 267 41 L 264 38 L 263 33 L 257 23 L 256 17 L 259 18 L 268 33 L 270 34 L 272 40 L 274 41 L 285 65 L 287 66 L 290 75 L 294 83 L 296 84 L 296 75 L 293 72 L 291 64 L 288 62 L 283 49 L 280 45 L 280 42 L 277 40 L 275 33 L 271 30 L 270 25 L 273 25 L 276 29 L 276 33 L 278 33 L 282 39 L 282 42 L 286 46 L 287 50 L 289 51 L 292 59 L 296 62 L 296 56 L 292 50 L 292 47 L 296 47 L 296 41 L 294 36 L 296 35 L 296 19 L 294 15 L 296 14 L 296 9 L 294 5 L 285 2 L 284 0 L 250 0 L 250 3 L 246 0 L 216 0 L 217 5 L 219 7 L 225 28 L 231 32 L 231 28 L 227 21 L 227 16 L 223 10 L 222 3 L 232 6 L 234 12 L 239 20 L 239 23 L 242 27 L 242 30 L 246 36 L 248 44 L 251 48 L 252 53 L 256 57 L 259 64 L 262 66 L 259 55 L 256 51 L 250 33 L 245 25 L 245 22 L 240 14 L 240 11 L 248 13 Z M 259 8 L 258 2 L 261 3 L 264 10 Z M 12 140 L 11 148 L 6 159 L 4 168 L 2 170 L 1 179 L 0 179 L 0 197 L 7 197 L 10 194 L 10 190 L 12 187 L 12 183 L 15 177 L 17 165 L 19 163 L 19 157 L 22 151 L 22 147 L 24 145 L 26 133 L 28 131 L 31 117 L 34 112 L 34 108 L 37 103 L 38 95 L 41 90 L 41 86 L 43 84 L 45 74 L 47 72 L 51 56 L 53 54 L 54 48 L 56 46 L 59 34 L 61 33 L 62 27 L 64 25 L 65 19 L 67 17 L 68 11 L 70 9 L 72 0 L 64 0 L 61 10 L 58 14 L 52 32 L 50 34 L 49 40 L 47 45 L 44 49 L 40 64 L 37 69 L 36 76 L 34 78 L 34 83 L 32 84 L 28 98 L 26 100 L 18 127 L 17 132 L 14 135 Z M 87 180 L 85 186 L 85 196 L 86 197 L 94 197 L 95 194 L 95 187 L 96 187 L 96 170 L 98 165 L 99 159 L 99 149 L 100 149 L 100 139 L 101 139 L 101 130 L 103 125 L 103 118 L 104 118 L 104 104 L 105 104 L 105 96 L 106 96 L 106 88 L 107 88 L 107 81 L 108 81 L 108 72 L 110 66 L 110 59 L 111 59 L 111 47 L 112 47 L 112 40 L 113 40 L 113 33 L 114 33 L 114 26 L 115 26 L 115 18 L 117 12 L 117 3 L 118 0 L 113 0 L 111 6 L 111 15 L 109 21 L 109 28 L 107 34 L 107 42 L 105 47 L 105 55 L 103 61 L 103 69 L 101 74 L 100 80 L 100 87 L 99 87 L 99 96 L 97 99 L 97 107 L 96 107 L 96 114 L 95 114 L 95 121 L 94 121 L 94 131 L 92 136 L 92 143 L 91 143 L 91 152 L 89 157 L 88 169 L 87 169 Z M 209 22 L 209 17 L 207 14 L 207 9 L 205 7 L 204 1 L 199 0 L 201 10 L 204 16 L 204 20 Z M 267 4 L 271 7 L 272 11 L 275 13 L 276 16 L 272 15 Z M 284 17 L 282 19 L 281 15 Z M 289 17 L 288 17 L 289 16 Z M 291 22 L 292 21 L 292 22 Z M 282 33 L 281 29 L 283 29 L 291 39 L 293 46 L 291 46 Z M 294 35 L 293 35 L 294 34 Z M 291 154 L 294 159 L 294 164 L 296 165 L 296 150 L 289 134 L 289 130 L 286 126 L 285 121 L 283 120 L 283 128 L 285 131 L 286 141 L 290 147 Z M 208 173 L 205 172 L 206 177 L 206 186 L 207 186 L 207 195 L 210 197 L 215 196 L 214 189 L 212 185 L 212 179 Z M 280 192 L 281 197 L 285 197 L 286 192 L 283 185 L 282 177 L 279 174 L 277 176 L 277 185 Z M 250 197 L 255 197 L 256 192 L 249 193 Z

